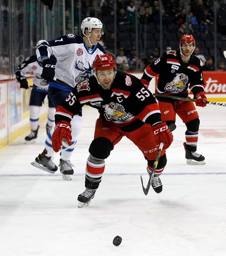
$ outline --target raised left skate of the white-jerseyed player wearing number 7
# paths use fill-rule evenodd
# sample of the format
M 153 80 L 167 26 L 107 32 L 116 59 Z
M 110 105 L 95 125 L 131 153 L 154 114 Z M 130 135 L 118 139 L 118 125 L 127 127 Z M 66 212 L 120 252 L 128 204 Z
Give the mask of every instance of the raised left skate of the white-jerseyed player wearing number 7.
M 52 157 L 46 156 L 46 149 L 35 158 L 35 161 L 31 162 L 31 164 L 43 171 L 55 173 L 57 170 L 57 166 L 52 161 Z

